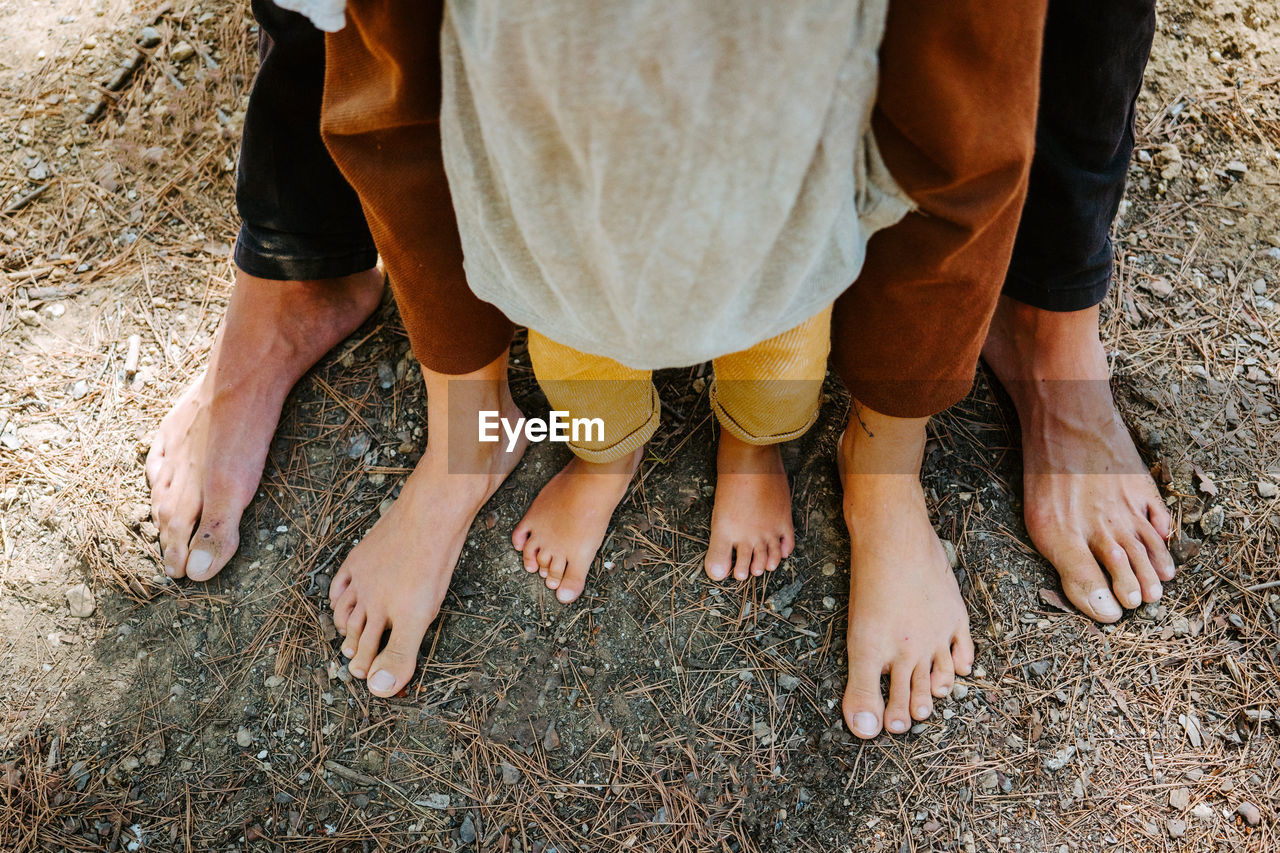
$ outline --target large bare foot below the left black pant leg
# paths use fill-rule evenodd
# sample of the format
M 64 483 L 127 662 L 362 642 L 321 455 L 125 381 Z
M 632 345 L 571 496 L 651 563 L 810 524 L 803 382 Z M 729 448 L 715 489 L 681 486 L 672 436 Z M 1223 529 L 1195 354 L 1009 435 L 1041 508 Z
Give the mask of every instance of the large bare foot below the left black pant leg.
M 376 269 L 314 282 L 236 273 L 209 368 L 174 403 L 147 453 L 165 574 L 209 580 L 232 558 L 284 398 L 381 295 Z

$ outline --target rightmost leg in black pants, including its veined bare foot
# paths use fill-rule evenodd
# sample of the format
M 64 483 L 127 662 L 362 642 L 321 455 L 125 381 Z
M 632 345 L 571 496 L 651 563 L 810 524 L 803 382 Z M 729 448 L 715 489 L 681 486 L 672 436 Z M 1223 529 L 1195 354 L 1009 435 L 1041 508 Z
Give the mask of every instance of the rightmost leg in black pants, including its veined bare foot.
M 1051 0 L 1030 190 L 983 357 L 1018 407 L 1024 514 L 1102 622 L 1174 576 L 1169 511 L 1111 397 L 1098 304 L 1133 154 L 1155 0 Z

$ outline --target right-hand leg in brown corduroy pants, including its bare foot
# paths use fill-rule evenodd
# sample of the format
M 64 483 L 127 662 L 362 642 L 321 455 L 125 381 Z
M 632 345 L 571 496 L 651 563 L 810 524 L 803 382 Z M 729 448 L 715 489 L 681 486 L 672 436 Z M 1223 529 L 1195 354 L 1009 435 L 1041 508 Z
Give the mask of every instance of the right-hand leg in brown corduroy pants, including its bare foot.
M 919 209 L 872 238 L 832 339 L 855 400 L 840 447 L 851 547 L 844 711 L 861 738 L 906 731 L 973 663 L 919 470 L 927 418 L 973 382 L 1009 263 L 1043 23 L 1043 1 L 890 5 L 873 123 Z

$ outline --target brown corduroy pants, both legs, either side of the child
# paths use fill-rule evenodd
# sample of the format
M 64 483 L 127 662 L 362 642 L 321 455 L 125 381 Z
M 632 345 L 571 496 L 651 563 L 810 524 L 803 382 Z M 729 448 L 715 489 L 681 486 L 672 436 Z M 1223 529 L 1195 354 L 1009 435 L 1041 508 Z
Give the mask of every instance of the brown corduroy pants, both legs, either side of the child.
M 874 128 L 918 210 L 872 238 L 832 320 L 832 364 L 876 411 L 931 415 L 973 383 L 1027 192 L 1046 3 L 891 1 Z M 328 38 L 321 127 L 419 360 L 457 374 L 498 357 L 512 329 L 462 272 L 440 156 L 442 8 L 349 0 Z

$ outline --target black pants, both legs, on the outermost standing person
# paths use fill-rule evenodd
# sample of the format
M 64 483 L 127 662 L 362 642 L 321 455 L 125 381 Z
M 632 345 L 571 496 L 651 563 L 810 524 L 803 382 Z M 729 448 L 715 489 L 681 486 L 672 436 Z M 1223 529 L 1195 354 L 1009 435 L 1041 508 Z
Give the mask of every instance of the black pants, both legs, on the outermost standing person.
M 324 33 L 253 0 L 261 67 L 236 202 L 236 264 L 261 278 L 335 278 L 376 259 L 360 201 L 320 140 Z M 1050 0 L 1030 188 L 1005 295 L 1052 311 L 1103 300 L 1111 223 L 1133 154 L 1155 0 Z

